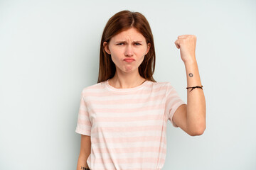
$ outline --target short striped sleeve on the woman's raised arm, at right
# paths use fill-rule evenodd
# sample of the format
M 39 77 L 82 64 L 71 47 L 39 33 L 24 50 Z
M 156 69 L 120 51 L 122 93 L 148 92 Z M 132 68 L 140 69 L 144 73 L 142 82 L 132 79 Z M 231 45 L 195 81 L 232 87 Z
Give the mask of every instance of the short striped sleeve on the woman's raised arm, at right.
M 177 91 L 174 89 L 173 86 L 168 82 L 166 84 L 166 115 L 168 116 L 168 119 L 171 121 L 172 125 L 176 128 L 178 128 L 178 125 L 176 125 L 172 118 L 174 116 L 175 111 L 179 106 L 182 104 L 186 104 L 178 95 Z

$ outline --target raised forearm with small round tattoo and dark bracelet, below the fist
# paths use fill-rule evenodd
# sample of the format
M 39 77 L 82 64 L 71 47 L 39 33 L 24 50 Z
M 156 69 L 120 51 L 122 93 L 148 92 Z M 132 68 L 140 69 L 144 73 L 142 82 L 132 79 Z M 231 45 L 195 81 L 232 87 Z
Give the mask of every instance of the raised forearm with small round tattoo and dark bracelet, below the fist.
M 193 57 L 196 58 L 196 57 Z M 184 63 L 186 67 L 187 86 L 201 86 L 196 60 Z M 201 135 L 206 129 L 206 99 L 203 89 L 187 89 L 187 128 L 192 134 Z

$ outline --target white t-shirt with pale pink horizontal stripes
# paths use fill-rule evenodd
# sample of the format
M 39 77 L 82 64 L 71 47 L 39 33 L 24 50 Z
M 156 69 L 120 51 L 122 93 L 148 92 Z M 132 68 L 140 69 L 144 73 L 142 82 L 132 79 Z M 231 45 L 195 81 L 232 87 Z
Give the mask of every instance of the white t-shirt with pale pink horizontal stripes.
M 186 104 L 169 82 L 117 89 L 102 81 L 82 89 L 75 132 L 91 137 L 92 170 L 159 170 L 166 158 L 166 124 Z

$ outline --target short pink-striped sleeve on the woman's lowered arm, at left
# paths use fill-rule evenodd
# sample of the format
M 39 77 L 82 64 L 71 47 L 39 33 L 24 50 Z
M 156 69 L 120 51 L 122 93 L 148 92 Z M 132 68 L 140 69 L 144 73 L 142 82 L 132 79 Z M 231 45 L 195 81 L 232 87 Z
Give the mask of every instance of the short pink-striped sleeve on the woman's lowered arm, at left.
M 91 128 L 92 128 L 92 125 L 90 122 L 90 117 L 89 117 L 89 113 L 88 113 L 87 106 L 85 103 L 85 99 L 84 99 L 84 96 L 81 94 L 80 107 L 79 107 L 79 111 L 78 111 L 78 124 L 75 129 L 75 132 L 82 134 L 82 135 L 90 136 Z

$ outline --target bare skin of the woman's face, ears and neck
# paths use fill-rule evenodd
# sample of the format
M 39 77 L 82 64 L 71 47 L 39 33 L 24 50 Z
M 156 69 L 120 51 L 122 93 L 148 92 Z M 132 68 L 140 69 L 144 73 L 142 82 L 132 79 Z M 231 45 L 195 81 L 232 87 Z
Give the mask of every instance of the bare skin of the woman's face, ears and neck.
M 114 77 L 109 80 L 111 86 L 127 89 L 142 84 L 145 79 L 139 75 L 139 65 L 150 49 L 150 43 L 146 43 L 142 33 L 136 28 L 129 28 L 112 37 L 109 43 L 104 42 L 103 47 L 116 66 Z M 126 62 L 126 58 L 135 61 Z

